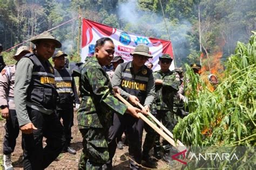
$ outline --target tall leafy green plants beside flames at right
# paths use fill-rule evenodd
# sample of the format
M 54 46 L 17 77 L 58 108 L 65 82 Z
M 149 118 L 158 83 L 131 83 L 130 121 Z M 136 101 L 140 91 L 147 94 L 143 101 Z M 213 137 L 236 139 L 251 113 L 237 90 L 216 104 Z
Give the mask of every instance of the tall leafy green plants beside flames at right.
M 255 145 L 255 34 L 248 44 L 238 42 L 215 91 L 208 89 L 205 81 L 186 66 L 185 77 L 190 79 L 186 84 L 190 114 L 174 128 L 177 139 L 192 146 Z M 217 70 L 220 68 L 215 66 Z

